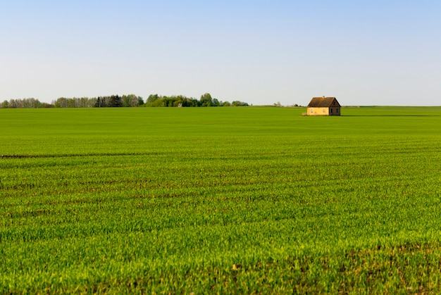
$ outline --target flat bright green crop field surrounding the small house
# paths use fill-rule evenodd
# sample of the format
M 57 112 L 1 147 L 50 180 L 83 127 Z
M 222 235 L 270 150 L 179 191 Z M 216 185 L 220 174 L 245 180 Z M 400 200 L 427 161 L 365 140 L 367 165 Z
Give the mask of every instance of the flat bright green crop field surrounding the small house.
M 0 109 L 0 294 L 441 291 L 441 107 Z

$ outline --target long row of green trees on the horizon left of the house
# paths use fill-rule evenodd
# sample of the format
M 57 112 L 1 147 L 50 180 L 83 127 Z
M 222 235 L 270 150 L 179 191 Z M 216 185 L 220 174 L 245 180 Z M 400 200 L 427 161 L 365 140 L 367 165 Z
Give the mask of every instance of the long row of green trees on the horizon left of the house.
M 1 103 L 1 108 L 111 108 L 111 107 L 204 107 L 204 106 L 248 106 L 243 101 L 219 101 L 205 93 L 201 98 L 183 95 L 160 96 L 150 94 L 144 102 L 141 96 L 128 94 L 123 96 L 98 96 L 93 98 L 66 98 L 60 97 L 51 103 L 42 103 L 38 99 L 11 99 Z

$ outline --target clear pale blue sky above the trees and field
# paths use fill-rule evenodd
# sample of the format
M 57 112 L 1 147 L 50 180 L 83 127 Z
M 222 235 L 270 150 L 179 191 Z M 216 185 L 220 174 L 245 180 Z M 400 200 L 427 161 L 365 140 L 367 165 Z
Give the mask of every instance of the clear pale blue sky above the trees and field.
M 440 0 L 0 0 L 0 101 L 441 105 Z

